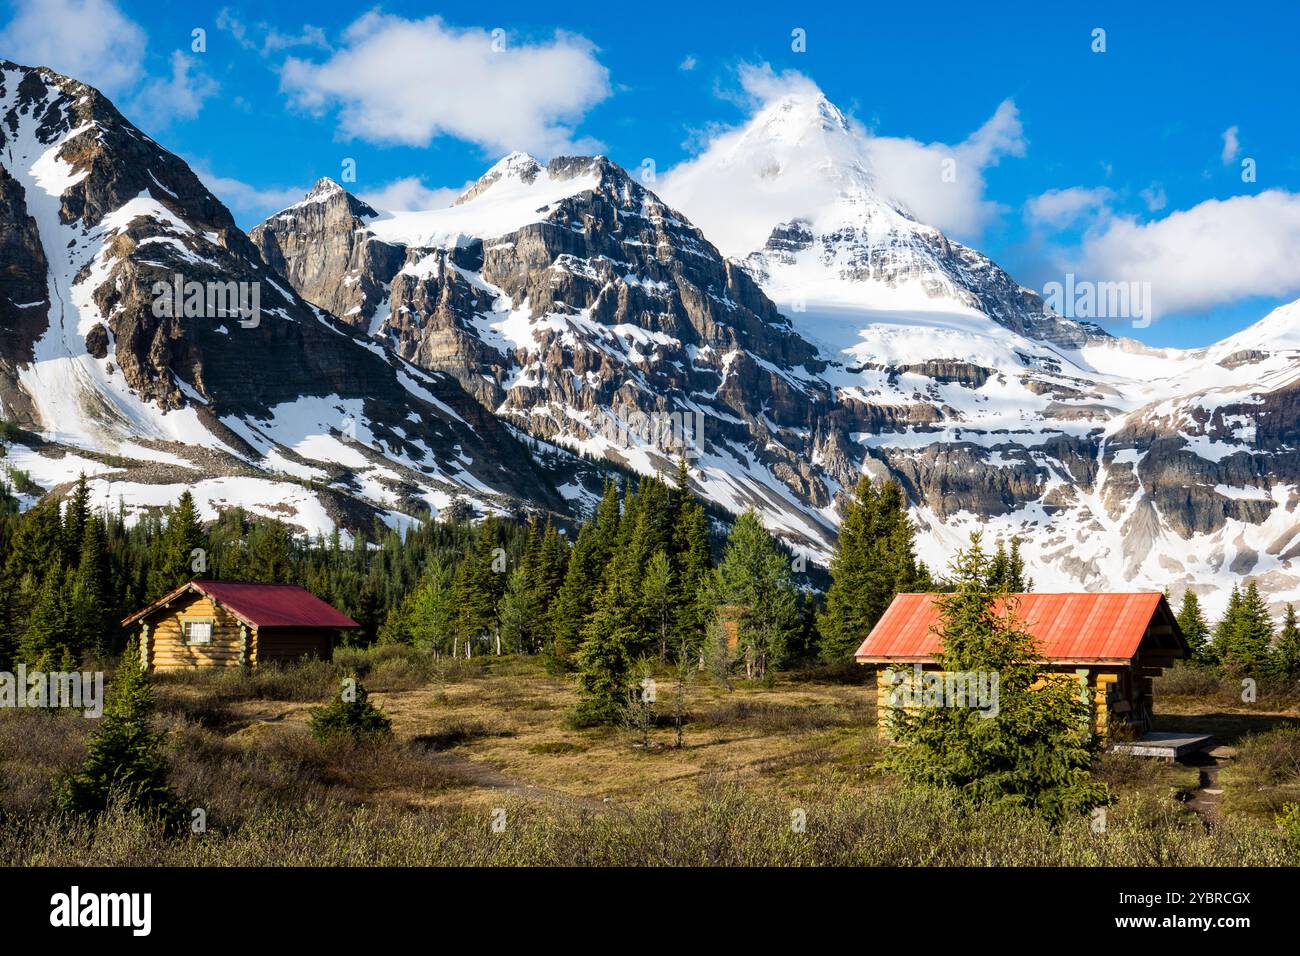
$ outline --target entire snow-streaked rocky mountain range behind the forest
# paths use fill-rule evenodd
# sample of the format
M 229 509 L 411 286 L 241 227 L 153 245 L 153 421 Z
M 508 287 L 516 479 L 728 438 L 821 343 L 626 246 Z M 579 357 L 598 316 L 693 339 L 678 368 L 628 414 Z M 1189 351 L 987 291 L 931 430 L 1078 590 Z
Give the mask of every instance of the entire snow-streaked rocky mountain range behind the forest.
M 1300 598 L 1300 303 L 1202 350 L 1113 338 L 878 195 L 831 104 L 764 124 L 750 165 L 811 156 L 831 204 L 738 259 L 603 157 L 523 153 L 446 209 L 322 179 L 244 235 L 98 92 L 3 64 L 0 410 L 311 528 L 452 494 L 577 514 L 541 471 L 562 449 L 689 450 L 697 490 L 815 554 L 867 472 L 936 568 L 982 531 L 1024 538 L 1040 588 Z M 259 321 L 160 313 L 177 274 L 256 287 Z

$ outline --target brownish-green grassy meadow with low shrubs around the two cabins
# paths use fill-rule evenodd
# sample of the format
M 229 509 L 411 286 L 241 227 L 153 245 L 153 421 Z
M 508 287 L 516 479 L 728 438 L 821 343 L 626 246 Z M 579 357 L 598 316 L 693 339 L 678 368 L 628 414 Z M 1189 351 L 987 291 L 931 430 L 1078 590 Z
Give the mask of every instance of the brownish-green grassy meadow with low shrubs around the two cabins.
M 355 670 L 393 735 L 318 741 L 311 710 Z M 1275 823 L 1300 800 L 1300 701 L 1175 670 L 1157 727 L 1227 749 L 1209 810 L 1195 765 L 1098 756 L 1105 826 L 1050 827 L 900 784 L 875 691 L 819 674 L 727 689 L 693 675 L 684 747 L 673 676 L 647 731 L 577 730 L 572 679 L 536 657 L 339 650 L 251 674 L 152 679 L 169 782 L 202 832 L 110 810 L 66 819 L 53 782 L 92 722 L 0 711 L 0 864 L 23 865 L 1296 865 Z

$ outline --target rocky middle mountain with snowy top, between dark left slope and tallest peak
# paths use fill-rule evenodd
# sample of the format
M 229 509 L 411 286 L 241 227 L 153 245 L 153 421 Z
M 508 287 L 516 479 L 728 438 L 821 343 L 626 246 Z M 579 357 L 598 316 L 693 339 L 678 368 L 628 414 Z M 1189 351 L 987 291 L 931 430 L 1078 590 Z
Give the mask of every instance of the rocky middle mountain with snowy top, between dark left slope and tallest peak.
M 521 202 L 526 215 L 494 229 L 494 209 L 516 194 L 534 196 Z M 794 540 L 826 545 L 824 519 L 790 509 L 788 498 L 822 507 L 852 480 L 848 458 L 838 467 L 850 471 L 833 477 L 814 464 L 812 423 L 835 431 L 816 349 L 749 273 L 615 164 L 560 157 L 542 166 L 512 155 L 448 211 L 456 228 L 438 243 L 428 242 L 438 234 L 429 222 L 382 213 L 339 215 L 333 229 L 299 234 L 302 209 L 322 206 L 308 200 L 257 226 L 259 245 L 286 254 L 290 277 L 324 277 L 321 264 L 333 261 L 325 287 L 387 285 L 373 330 L 403 358 L 454 375 L 486 408 L 547 441 L 666 471 L 671 446 L 616 447 L 610 427 L 701 412 L 705 454 L 727 466 L 714 479 L 729 485 L 727 494 L 741 507 L 786 512 Z M 355 208 L 347 202 L 328 199 Z M 363 256 L 355 245 L 338 254 L 338 229 L 361 243 L 404 245 L 400 269 L 363 272 L 354 284 L 343 265 Z M 311 298 L 315 286 L 298 287 Z M 846 433 L 840 440 L 852 444 Z M 734 462 L 758 488 L 736 480 Z

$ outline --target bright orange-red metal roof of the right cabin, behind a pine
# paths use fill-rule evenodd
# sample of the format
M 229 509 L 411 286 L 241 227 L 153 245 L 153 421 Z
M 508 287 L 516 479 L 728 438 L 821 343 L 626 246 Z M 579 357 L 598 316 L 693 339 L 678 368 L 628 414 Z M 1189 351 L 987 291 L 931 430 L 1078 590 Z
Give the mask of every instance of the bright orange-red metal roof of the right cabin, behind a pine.
M 939 656 L 941 594 L 898 594 L 858 648 L 858 663 Z M 1017 614 L 1048 661 L 1130 661 L 1164 594 L 1015 594 Z

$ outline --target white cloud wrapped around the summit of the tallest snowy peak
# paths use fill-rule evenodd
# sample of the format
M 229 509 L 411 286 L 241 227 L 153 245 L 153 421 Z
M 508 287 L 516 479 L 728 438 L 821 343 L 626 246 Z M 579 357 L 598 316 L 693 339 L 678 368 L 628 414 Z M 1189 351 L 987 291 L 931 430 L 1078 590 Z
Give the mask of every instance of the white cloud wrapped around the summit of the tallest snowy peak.
M 828 169 L 861 170 L 857 181 L 870 179 L 922 222 L 974 238 L 1000 212 L 985 198 L 984 170 L 1024 152 L 1010 100 L 959 143 L 922 143 L 874 135 L 852 117 L 841 127 L 840 112 L 801 73 L 745 65 L 738 79 L 738 91 L 718 92 L 750 118 L 701 134 L 699 155 L 660 176 L 655 190 L 727 255 L 759 248 L 779 222 L 833 211 L 845 182 Z

